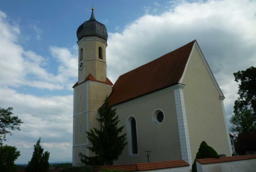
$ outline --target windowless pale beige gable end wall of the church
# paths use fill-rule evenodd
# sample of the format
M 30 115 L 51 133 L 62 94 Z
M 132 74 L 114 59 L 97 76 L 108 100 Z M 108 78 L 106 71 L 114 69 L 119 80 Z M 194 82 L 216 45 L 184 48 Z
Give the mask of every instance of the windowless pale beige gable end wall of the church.
M 202 141 L 230 156 L 219 93 L 195 47 L 182 84 L 192 160 Z

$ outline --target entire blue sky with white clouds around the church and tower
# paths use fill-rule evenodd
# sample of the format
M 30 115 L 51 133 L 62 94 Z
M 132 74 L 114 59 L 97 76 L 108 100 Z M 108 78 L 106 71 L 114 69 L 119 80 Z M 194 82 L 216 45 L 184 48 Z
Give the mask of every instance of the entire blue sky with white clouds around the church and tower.
M 78 77 L 76 30 L 89 20 L 108 31 L 107 76 L 119 75 L 197 40 L 221 90 L 229 120 L 238 97 L 233 73 L 256 66 L 254 0 L 0 0 L 0 107 L 23 121 L 4 144 L 17 164 L 33 145 L 49 162 L 72 160 L 73 88 Z M 229 124 L 230 127 L 230 124 Z

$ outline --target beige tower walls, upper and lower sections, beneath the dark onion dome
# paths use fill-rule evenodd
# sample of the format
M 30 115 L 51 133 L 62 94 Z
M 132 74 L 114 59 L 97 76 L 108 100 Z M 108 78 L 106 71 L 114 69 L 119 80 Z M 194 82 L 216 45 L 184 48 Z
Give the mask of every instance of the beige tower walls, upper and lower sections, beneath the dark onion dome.
M 98 108 L 112 91 L 112 85 L 102 83 L 107 79 L 106 41 L 98 37 L 84 37 L 78 41 L 78 45 L 78 62 L 82 61 L 84 66 L 78 70 L 78 85 L 74 87 L 73 165 L 75 166 L 81 164 L 81 154 L 95 156 L 87 149 L 90 143 L 86 131 L 92 128 L 100 129 L 100 123 L 96 120 L 100 117 Z M 98 47 L 102 48 L 102 59 L 99 58 Z M 97 81 L 85 81 L 89 74 Z

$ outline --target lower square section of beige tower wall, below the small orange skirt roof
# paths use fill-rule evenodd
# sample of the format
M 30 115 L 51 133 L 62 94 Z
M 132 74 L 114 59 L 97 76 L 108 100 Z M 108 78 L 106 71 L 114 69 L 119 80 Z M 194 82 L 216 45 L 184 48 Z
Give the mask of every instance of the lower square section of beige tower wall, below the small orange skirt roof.
M 80 163 L 78 156 L 80 152 L 94 156 L 86 148 L 90 144 L 86 131 L 100 128 L 100 123 L 96 121 L 96 118 L 99 118 L 97 111 L 111 91 L 111 85 L 95 81 L 86 81 L 74 88 L 73 165 Z

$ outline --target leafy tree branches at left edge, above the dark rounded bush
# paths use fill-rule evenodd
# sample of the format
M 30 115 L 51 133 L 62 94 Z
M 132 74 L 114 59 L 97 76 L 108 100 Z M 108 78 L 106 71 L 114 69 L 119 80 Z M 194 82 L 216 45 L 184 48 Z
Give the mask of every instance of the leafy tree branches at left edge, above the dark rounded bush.
M 13 108 L 7 109 L 0 107 L 0 145 L 5 141 L 6 135 L 11 135 L 11 130 L 20 130 L 20 124 L 23 123 L 12 113 Z

